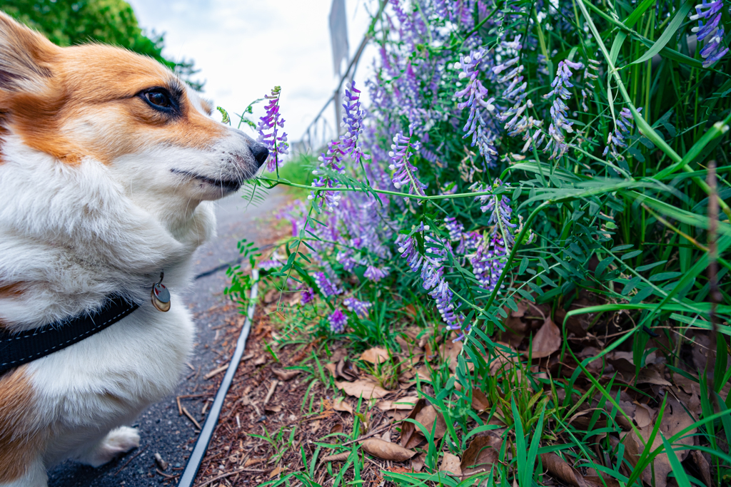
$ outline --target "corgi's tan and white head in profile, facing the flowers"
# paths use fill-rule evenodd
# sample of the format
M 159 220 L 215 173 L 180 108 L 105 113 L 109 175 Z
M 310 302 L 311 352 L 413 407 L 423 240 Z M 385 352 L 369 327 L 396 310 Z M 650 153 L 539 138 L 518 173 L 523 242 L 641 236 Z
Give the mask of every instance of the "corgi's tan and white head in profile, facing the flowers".
M 58 47 L 0 12 L 0 150 L 2 139 L 18 137 L 62 164 L 92 158 L 149 201 L 218 199 L 268 153 L 209 115 L 207 102 L 151 58 Z

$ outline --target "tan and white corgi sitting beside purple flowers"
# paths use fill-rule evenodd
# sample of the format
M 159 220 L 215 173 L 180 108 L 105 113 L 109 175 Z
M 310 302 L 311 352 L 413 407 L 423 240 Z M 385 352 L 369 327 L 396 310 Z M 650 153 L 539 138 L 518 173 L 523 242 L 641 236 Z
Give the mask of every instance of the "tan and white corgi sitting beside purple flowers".
M 194 339 L 179 296 L 215 230 L 212 201 L 268 158 L 210 115 L 150 58 L 58 47 L 0 12 L 0 330 L 63 323 L 112 294 L 139 304 L 0 375 L 1 487 L 137 447 L 126 425 L 178 386 Z M 151 302 L 161 272 L 167 312 Z

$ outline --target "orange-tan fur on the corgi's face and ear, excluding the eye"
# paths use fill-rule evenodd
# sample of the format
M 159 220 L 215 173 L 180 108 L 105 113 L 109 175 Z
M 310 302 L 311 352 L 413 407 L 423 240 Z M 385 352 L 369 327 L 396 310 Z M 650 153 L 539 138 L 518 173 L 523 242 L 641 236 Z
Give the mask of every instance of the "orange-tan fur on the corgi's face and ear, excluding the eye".
M 29 147 L 67 164 L 84 157 L 109 164 L 140 146 L 205 148 L 224 134 L 219 123 L 191 110 L 180 81 L 150 58 L 105 45 L 57 47 L 2 12 L 0 29 L 12 30 L 19 43 L 28 45 L 28 55 L 44 73 L 43 85 L 32 91 L 12 89 L 23 83 L 22 74 L 0 79 L 0 123 Z M 154 87 L 182 93 L 180 117 L 155 113 L 137 96 Z M 104 120 L 115 120 L 118 129 L 103 130 Z

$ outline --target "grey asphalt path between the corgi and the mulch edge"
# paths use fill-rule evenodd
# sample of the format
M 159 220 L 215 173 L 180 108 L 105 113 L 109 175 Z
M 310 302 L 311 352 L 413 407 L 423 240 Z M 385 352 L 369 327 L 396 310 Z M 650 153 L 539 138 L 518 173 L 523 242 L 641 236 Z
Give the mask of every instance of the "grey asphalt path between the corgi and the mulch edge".
M 155 453 L 170 464 L 164 471 L 166 475 L 182 471 L 197 434 L 192 421 L 178 415 L 175 396 L 200 393 L 205 382 L 202 376 L 211 369 L 211 364 L 216 361 L 224 364 L 228 358 L 216 356 L 213 348 L 206 346 L 213 342 L 215 329 L 224 323 L 224 315 L 210 310 L 221 307 L 226 300 L 223 290 L 229 281 L 225 264 L 238 260 L 236 244 L 240 239 L 257 242 L 268 237 L 270 216 L 286 201 L 284 191 L 275 188 L 259 204 L 247 205 L 240 195 L 217 202 L 218 236 L 199 248 L 194 256 L 196 275 L 205 275 L 195 280 L 186 293 L 186 304 L 194 315 L 201 316 L 196 320 L 198 345 L 190 361 L 195 370 L 183 379 L 173 396 L 153 404 L 137 418 L 135 425 L 131 425 L 140 430 L 140 448 L 97 469 L 67 461 L 49 472 L 50 487 L 159 486 L 166 479 L 156 472 Z M 192 413 L 202 422 L 200 410 Z M 176 483 L 173 480 L 172 485 Z

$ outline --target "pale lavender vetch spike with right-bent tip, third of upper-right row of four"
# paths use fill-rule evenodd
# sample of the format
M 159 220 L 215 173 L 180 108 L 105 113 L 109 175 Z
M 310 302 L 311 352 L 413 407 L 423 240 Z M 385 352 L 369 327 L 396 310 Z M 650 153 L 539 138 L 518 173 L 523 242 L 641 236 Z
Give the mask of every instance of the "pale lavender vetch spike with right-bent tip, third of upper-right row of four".
M 561 157 L 566 153 L 569 146 L 566 143 L 566 132 L 573 132 L 572 123 L 566 118 L 566 114 L 569 111 L 569 107 L 564 103 L 564 100 L 571 98 L 571 92 L 567 88 L 572 88 L 571 77 L 572 69 L 582 69 L 584 67 L 581 63 L 574 63 L 568 59 L 564 59 L 558 63 L 558 71 L 556 72 L 556 78 L 551 83 L 553 90 L 546 93 L 543 98 L 553 98 L 553 106 L 550 109 L 550 118 L 552 120 L 548 127 L 548 143 L 543 148 L 543 152 L 551 151 L 551 155 L 548 158 L 553 159 Z

